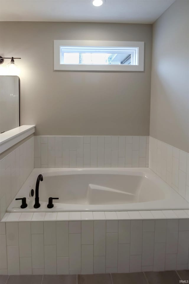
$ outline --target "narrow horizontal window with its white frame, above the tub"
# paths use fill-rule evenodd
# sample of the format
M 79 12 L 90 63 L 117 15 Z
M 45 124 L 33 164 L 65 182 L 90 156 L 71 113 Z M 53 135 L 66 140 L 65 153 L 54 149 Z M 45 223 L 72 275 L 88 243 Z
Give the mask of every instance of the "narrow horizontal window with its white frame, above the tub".
M 54 70 L 143 71 L 144 42 L 56 40 Z

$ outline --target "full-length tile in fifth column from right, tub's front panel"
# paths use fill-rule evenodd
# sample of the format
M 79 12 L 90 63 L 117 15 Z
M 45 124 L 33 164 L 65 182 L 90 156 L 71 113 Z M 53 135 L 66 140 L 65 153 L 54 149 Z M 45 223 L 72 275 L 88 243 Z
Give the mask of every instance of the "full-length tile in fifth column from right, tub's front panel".
M 142 220 L 131 221 L 131 255 L 142 254 Z

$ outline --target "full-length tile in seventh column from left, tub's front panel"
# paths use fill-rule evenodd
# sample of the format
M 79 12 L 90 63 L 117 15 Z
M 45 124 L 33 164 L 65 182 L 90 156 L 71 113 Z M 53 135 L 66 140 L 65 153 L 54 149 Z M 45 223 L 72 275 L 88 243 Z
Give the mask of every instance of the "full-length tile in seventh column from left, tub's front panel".
M 81 234 L 69 234 L 69 268 L 81 268 Z

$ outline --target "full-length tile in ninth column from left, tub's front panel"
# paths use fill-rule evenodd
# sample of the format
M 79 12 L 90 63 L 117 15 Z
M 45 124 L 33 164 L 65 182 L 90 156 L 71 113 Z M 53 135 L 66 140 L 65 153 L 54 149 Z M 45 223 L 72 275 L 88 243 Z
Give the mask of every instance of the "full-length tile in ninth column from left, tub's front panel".
M 106 221 L 94 221 L 94 256 L 106 255 Z

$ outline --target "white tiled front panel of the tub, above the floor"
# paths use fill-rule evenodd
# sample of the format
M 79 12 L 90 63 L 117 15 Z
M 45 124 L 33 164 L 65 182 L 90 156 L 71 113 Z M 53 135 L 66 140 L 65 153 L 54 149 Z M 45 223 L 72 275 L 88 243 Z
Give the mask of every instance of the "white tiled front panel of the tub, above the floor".
M 188 261 L 189 218 L 0 223 L 4 274 L 163 271 Z

